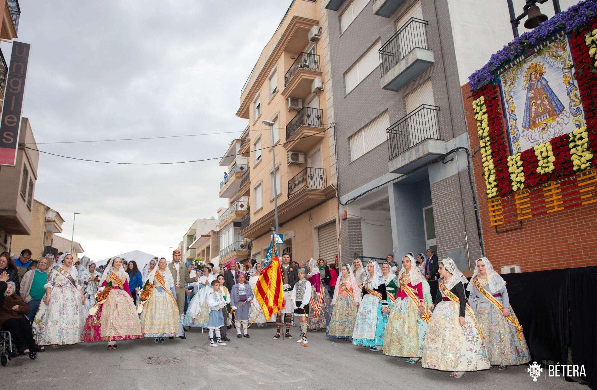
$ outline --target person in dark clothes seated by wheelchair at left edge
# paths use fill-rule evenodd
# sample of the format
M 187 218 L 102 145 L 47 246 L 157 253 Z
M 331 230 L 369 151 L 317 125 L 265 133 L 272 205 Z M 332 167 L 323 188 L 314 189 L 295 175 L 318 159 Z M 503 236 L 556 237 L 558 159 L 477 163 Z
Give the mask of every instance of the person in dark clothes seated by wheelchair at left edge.
M 38 346 L 33 339 L 31 324 L 25 315 L 29 313 L 29 305 L 15 292 L 16 284 L 7 283 L 4 305 L 0 307 L 0 326 L 2 330 L 10 332 L 11 338 L 21 354 L 29 352 L 43 352 L 45 348 Z

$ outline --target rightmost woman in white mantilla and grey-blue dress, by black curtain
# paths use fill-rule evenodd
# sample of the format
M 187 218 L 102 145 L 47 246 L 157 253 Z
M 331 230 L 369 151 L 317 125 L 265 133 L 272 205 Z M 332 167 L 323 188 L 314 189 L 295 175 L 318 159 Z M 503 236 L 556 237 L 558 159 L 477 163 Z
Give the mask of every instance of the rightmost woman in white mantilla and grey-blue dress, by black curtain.
M 486 258 L 478 259 L 470 278 L 469 305 L 485 336 L 485 347 L 492 366 L 505 370 L 531 360 L 522 326 L 510 308 L 506 281 Z

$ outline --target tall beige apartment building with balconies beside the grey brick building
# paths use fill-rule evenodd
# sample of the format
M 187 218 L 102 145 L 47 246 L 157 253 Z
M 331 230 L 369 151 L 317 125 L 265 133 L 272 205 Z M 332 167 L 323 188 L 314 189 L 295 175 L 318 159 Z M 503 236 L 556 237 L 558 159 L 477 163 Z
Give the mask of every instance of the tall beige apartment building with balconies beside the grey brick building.
M 227 156 L 237 163 L 244 159 L 241 166 L 246 169 L 230 166 L 220 196 L 231 194 L 231 207 L 236 199 L 248 197 L 248 211 L 239 211 L 240 205 L 234 211 L 235 221 L 240 221 L 238 227 L 233 226 L 233 239 L 239 242 L 233 249 L 246 251 L 257 260 L 266 255 L 270 244 L 275 197 L 279 231 L 284 236 L 281 250 L 291 253 L 299 263 L 311 257 L 332 263 L 339 253 L 336 153 L 330 125 L 333 96 L 324 3 L 291 3 L 261 51 L 236 112 L 248 120 L 248 126 Z M 273 137 L 263 121 L 273 122 Z M 233 156 L 235 150 L 241 156 Z M 277 188 L 273 187 L 274 177 Z

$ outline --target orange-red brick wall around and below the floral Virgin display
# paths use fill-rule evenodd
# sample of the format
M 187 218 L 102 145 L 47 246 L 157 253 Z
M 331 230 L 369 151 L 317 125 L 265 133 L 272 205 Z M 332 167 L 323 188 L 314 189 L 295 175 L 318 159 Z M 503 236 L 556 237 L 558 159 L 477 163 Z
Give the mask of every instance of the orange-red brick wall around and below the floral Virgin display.
M 479 147 L 468 84 L 462 86 L 470 148 Z M 476 194 L 481 215 L 485 255 L 499 272 L 520 265 L 522 272 L 597 265 L 597 204 L 533 216 L 516 230 L 498 233 L 490 225 L 481 153 L 473 157 Z

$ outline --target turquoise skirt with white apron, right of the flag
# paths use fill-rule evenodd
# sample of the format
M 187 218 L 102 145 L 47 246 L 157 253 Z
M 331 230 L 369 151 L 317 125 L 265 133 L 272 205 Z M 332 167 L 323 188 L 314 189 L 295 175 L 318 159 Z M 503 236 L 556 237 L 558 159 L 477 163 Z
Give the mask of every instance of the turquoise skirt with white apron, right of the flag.
M 355 330 L 352 332 L 352 345 L 381 346 L 386 333 L 387 315 L 381 312 L 381 301 L 367 294 L 363 297 L 356 313 Z

